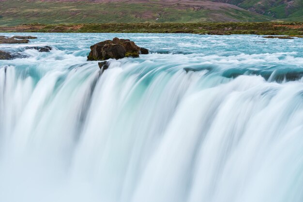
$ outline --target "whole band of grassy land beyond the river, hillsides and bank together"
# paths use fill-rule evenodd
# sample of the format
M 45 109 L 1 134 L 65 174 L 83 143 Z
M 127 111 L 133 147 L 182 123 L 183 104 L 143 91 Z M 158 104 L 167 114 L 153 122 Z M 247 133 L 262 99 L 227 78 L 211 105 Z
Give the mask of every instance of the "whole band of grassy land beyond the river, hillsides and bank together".
M 302 0 L 0 0 L 2 32 L 302 35 L 302 16 Z

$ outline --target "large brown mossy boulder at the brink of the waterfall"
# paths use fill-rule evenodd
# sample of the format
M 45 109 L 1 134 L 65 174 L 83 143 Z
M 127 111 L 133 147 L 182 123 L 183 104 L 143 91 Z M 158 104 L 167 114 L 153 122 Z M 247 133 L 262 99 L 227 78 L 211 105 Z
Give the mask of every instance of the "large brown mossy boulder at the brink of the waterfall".
M 136 58 L 139 57 L 140 52 L 142 52 L 140 49 L 135 42 L 116 37 L 113 40 L 106 40 L 92 45 L 87 60 L 120 59 L 125 57 Z

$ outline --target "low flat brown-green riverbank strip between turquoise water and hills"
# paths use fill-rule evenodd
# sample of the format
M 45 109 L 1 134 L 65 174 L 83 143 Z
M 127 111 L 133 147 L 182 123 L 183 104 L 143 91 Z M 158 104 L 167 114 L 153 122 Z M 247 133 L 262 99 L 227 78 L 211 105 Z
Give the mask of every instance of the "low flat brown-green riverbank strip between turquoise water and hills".
M 194 33 L 303 35 L 303 22 L 297 23 L 109 23 L 109 24 L 23 24 L 0 27 L 0 32 L 63 33 Z

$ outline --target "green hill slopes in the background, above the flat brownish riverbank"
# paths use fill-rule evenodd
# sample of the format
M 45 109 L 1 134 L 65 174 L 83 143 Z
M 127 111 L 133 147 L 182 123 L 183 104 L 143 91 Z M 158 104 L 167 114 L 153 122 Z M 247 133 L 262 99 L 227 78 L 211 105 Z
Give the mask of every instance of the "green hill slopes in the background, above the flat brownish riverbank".
M 0 0 L 0 25 L 300 20 L 302 0 Z M 268 4 L 268 2 L 271 4 Z M 248 3 L 249 2 L 249 3 Z M 261 6 L 260 6 L 261 5 Z M 287 7 L 287 13 L 283 13 Z M 293 6 L 293 7 L 291 7 Z M 283 8 L 284 8 L 283 7 Z M 292 9 L 290 9 L 290 7 Z M 301 8 L 301 10 L 300 10 Z M 278 12 L 279 11 L 279 12 Z M 301 12 L 301 13 L 300 13 Z M 299 17 L 299 18 L 298 18 Z M 301 20 L 303 21 L 303 19 Z

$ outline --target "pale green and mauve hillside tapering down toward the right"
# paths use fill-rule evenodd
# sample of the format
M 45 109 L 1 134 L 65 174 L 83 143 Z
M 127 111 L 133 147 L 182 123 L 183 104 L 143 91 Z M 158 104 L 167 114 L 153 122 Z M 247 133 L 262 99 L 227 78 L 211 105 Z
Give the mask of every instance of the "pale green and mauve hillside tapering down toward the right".
M 157 3 L 96 3 L 91 1 L 4 0 L 0 26 L 42 23 L 143 23 L 143 22 L 262 22 L 273 18 L 229 7 L 180 9 Z M 159 16 L 158 16 L 159 14 Z M 158 18 L 156 20 L 156 18 Z

